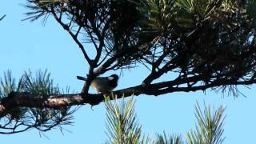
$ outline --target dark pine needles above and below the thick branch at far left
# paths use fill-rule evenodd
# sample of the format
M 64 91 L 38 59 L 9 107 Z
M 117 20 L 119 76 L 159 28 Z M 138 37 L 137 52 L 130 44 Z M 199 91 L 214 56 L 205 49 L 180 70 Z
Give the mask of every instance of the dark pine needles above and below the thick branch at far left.
M 42 98 L 50 97 L 51 94 L 61 94 L 58 86 L 54 86 L 47 71 L 38 71 L 35 78 L 32 77 L 30 71 L 26 72 L 17 85 L 10 70 L 8 70 L 0 83 L 1 100 L 8 98 L 11 92 L 26 92 Z M 70 110 L 70 107 L 59 109 L 17 107 L 1 115 L 0 134 L 14 134 L 30 128 L 43 132 L 56 126 L 62 130 L 62 125 L 72 124 L 73 117 L 71 114 L 74 111 L 75 109 Z

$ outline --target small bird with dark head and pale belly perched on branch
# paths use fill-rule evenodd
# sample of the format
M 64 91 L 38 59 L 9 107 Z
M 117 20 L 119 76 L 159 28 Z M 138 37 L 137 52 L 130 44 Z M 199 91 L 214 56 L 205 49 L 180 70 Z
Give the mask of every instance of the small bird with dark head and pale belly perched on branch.
M 77 76 L 79 80 L 86 81 L 87 78 L 83 78 L 81 76 Z M 90 86 L 92 86 L 95 90 L 98 91 L 98 93 L 109 93 L 116 86 L 118 86 L 118 75 L 112 74 L 109 77 L 96 77 L 94 80 L 90 83 Z

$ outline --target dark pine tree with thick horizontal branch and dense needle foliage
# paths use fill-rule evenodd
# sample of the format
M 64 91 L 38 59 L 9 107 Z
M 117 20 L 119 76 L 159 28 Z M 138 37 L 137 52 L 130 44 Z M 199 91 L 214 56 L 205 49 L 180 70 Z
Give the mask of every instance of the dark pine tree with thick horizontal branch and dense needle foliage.
M 98 105 L 104 95 L 213 89 L 237 97 L 237 86 L 256 82 L 254 6 L 255 0 L 26 0 L 25 19 L 46 22 L 52 16 L 89 69 L 78 94 L 63 92 L 47 72 L 33 77 L 28 71 L 18 82 L 7 72 L 0 86 L 0 133 L 70 124 L 70 106 Z M 94 78 L 136 66 L 150 71 L 140 85 L 111 94 L 88 92 Z M 170 79 L 159 82 L 162 76 Z

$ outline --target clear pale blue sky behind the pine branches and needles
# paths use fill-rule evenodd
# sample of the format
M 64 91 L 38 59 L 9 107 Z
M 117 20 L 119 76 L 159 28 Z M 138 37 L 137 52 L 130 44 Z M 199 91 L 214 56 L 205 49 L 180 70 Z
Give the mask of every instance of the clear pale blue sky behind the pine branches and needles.
M 46 26 L 41 21 L 22 22 L 27 12 L 22 4 L 25 0 L 2 1 L 0 16 L 6 18 L 0 22 L 0 75 L 6 70 L 12 70 L 14 77 L 19 78 L 24 70 L 45 70 L 51 72 L 51 78 L 59 86 L 70 86 L 71 90 L 79 91 L 82 82 L 76 75 L 86 74 L 86 62 L 78 46 L 62 27 L 49 18 Z M 90 46 L 86 46 L 90 48 Z M 118 73 L 110 72 L 110 73 Z M 109 73 L 109 74 L 110 74 Z M 146 70 L 139 67 L 137 70 L 125 71 L 117 89 L 139 84 L 146 77 Z M 108 75 L 108 74 L 106 74 Z M 226 106 L 225 144 L 230 143 L 256 143 L 254 138 L 256 130 L 256 86 L 240 90 L 247 98 L 222 98 L 210 90 L 194 93 L 173 93 L 159 97 L 141 95 L 136 99 L 136 110 L 142 130 L 145 134 L 154 135 L 162 130 L 182 134 L 194 128 L 194 104 L 196 101 L 211 106 Z M 82 106 L 74 114 L 74 126 L 65 126 L 70 132 L 64 135 L 56 129 L 46 132 L 46 137 L 40 137 L 37 130 L 29 130 L 21 134 L 0 135 L 1 143 L 103 143 L 106 141 L 106 119 L 104 104 Z

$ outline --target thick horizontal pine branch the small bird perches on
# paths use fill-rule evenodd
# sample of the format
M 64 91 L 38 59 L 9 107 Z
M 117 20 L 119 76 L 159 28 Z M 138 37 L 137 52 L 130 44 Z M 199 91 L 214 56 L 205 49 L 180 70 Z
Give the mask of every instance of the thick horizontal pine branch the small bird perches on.
M 192 79 L 192 78 L 188 78 Z M 200 81 L 201 78 L 197 77 L 194 81 Z M 115 95 L 117 98 L 129 97 L 132 95 L 162 95 L 173 92 L 190 92 L 197 90 L 206 90 L 217 86 L 228 86 L 228 85 L 251 85 L 256 80 L 249 80 L 244 82 L 233 82 L 227 80 L 218 80 L 207 85 L 202 86 L 191 86 L 191 87 L 178 87 L 178 85 L 184 84 L 188 81 L 181 79 L 177 82 L 167 81 L 151 84 L 148 87 L 142 85 L 133 86 L 130 88 L 116 90 L 110 94 L 59 94 L 49 95 L 47 98 L 39 95 L 28 94 L 28 93 L 15 93 L 12 92 L 8 97 L 2 98 L 0 101 L 0 115 L 5 114 L 6 111 L 12 110 L 17 107 L 38 107 L 38 108 L 53 108 L 58 109 L 66 106 L 84 105 L 90 104 L 92 106 L 98 105 L 104 101 L 105 95 Z

